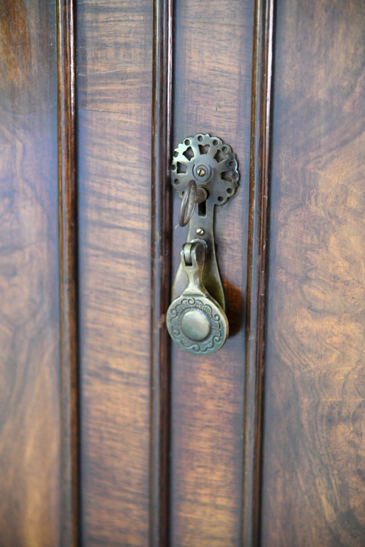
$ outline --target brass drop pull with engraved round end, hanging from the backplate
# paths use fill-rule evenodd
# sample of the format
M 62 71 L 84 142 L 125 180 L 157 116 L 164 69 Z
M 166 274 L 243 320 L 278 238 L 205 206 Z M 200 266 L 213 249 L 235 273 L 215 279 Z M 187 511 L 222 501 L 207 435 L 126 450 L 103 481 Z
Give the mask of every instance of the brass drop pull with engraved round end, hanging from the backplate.
M 221 306 L 202 283 L 205 249 L 203 243 L 185 243 L 181 266 L 187 286 L 169 306 L 166 324 L 172 339 L 190 353 L 214 353 L 228 336 L 228 321 Z

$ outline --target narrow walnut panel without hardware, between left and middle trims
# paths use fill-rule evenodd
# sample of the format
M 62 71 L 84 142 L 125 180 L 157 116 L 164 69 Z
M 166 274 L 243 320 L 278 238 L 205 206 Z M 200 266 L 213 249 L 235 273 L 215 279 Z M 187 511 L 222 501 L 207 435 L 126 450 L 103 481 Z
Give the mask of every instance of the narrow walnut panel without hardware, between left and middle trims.
M 152 5 L 78 6 L 81 522 L 147 545 Z

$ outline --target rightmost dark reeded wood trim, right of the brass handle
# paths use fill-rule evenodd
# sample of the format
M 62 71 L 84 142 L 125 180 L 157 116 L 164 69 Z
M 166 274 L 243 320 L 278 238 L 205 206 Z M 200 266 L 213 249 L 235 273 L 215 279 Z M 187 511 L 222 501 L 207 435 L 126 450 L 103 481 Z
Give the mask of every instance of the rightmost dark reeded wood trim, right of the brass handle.
M 261 438 L 274 0 L 256 0 L 252 61 L 242 544 L 260 545 Z

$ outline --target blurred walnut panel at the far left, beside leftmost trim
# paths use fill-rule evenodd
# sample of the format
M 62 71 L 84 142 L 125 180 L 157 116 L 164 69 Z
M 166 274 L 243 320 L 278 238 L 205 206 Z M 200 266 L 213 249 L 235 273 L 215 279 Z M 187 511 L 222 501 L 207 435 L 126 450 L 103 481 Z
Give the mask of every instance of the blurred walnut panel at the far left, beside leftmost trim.
M 60 544 L 56 10 L 0 7 L 0 544 Z

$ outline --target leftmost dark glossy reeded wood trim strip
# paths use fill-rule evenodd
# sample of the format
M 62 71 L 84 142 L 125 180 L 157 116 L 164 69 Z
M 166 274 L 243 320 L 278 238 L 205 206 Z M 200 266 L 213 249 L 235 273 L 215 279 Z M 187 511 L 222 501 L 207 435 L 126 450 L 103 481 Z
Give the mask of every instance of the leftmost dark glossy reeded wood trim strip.
M 57 0 L 58 238 L 60 252 L 61 544 L 79 544 L 79 394 L 73 0 Z

